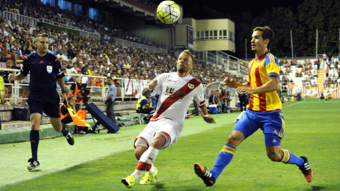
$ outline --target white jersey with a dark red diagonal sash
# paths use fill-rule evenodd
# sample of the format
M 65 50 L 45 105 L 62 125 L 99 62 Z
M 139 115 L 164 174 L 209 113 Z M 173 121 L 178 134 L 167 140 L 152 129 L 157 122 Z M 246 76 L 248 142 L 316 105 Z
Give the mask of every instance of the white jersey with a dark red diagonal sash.
M 166 118 L 183 125 L 193 98 L 198 105 L 205 104 L 203 85 L 193 76 L 181 77 L 176 72 L 172 72 L 161 74 L 154 80 L 157 80 L 157 86 L 152 91 L 152 96 L 159 93 L 159 101 L 150 121 Z

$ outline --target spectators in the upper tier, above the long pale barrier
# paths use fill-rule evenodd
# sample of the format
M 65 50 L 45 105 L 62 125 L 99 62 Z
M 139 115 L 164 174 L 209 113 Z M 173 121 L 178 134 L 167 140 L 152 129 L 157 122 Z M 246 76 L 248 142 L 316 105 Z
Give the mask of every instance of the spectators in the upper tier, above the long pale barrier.
M 138 3 L 147 4 L 147 1 L 141 1 Z M 47 19 L 49 21 L 55 21 L 55 25 L 59 25 L 61 23 L 92 33 L 99 33 L 101 34 L 103 40 L 108 40 L 110 42 L 114 37 L 165 49 L 165 46 L 161 45 L 161 43 L 147 40 L 145 37 L 137 36 L 132 31 L 114 28 L 113 25 L 94 21 L 86 16 L 76 16 L 70 11 L 56 8 L 50 5 L 34 6 L 28 1 L 12 0 L 10 4 L 7 4 L 6 1 L 0 1 L 0 7 L 1 11 L 10 11 L 31 18 Z M 28 28 L 30 28 L 29 25 Z

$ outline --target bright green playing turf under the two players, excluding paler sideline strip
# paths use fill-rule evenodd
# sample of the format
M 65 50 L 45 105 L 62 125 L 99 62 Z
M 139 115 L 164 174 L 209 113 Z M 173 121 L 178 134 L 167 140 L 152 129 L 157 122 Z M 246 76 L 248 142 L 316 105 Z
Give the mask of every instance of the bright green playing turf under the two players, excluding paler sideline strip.
M 309 158 L 314 172 L 312 183 L 305 181 L 296 166 L 268 159 L 263 134 L 258 131 L 237 147 L 232 162 L 215 185 L 205 187 L 194 173 L 193 163 L 199 162 L 211 169 L 234 124 L 212 128 L 205 125 L 200 117 L 192 117 L 186 121 L 185 130 L 201 126 L 207 126 L 209 130 L 197 134 L 183 131 L 190 135 L 179 137 L 176 144 L 159 151 L 154 162 L 159 170 L 156 182 L 152 185 L 139 185 L 137 182 L 130 190 L 339 190 L 339 106 L 340 100 L 315 99 L 283 104 L 285 137 L 281 147 L 297 156 Z M 215 120 L 224 120 L 221 116 L 231 118 L 225 122 L 227 124 L 236 119 L 237 113 L 214 115 Z M 128 133 L 128 129 L 121 130 L 122 134 Z M 112 147 L 106 149 L 112 149 L 116 144 L 114 139 L 111 141 Z M 120 180 L 130 175 L 137 166 L 131 146 L 127 146 L 127 151 L 98 159 L 89 158 L 86 163 L 6 185 L 1 190 L 127 190 Z M 91 146 L 84 146 L 84 149 L 91 149 Z M 18 175 L 42 173 L 43 168 L 29 173 L 23 168 Z

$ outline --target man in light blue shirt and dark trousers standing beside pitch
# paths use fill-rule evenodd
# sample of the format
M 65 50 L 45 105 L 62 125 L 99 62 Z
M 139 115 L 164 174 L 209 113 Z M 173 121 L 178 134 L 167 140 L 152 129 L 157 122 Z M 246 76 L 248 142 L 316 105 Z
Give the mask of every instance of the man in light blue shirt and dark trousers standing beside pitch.
M 108 84 L 108 91 L 106 91 L 106 96 L 104 99 L 104 103 L 106 104 L 106 115 L 110 118 L 113 122 L 115 122 L 115 97 L 117 96 L 117 88 L 112 83 L 111 77 L 106 79 L 106 83 Z

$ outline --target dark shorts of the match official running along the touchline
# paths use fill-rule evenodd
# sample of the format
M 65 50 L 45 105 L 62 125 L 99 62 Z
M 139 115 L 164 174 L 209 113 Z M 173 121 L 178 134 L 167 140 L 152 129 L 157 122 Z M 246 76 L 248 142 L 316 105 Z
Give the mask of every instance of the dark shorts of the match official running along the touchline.
M 45 112 L 49 117 L 60 117 L 60 98 L 57 91 L 30 91 L 28 96 L 30 115 Z

